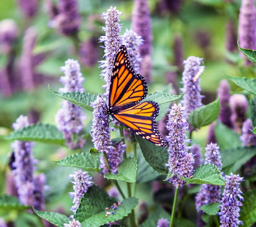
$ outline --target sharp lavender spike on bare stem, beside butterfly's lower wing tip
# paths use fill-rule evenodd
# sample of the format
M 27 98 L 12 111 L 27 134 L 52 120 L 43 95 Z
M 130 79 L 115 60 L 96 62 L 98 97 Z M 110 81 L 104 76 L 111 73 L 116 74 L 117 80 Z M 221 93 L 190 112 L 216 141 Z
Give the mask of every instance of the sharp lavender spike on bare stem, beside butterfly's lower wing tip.
M 178 175 L 182 177 L 190 177 L 193 173 L 194 157 L 192 153 L 188 153 L 186 142 L 189 142 L 186 137 L 188 130 L 188 115 L 185 113 L 185 108 L 181 104 L 174 104 L 169 110 L 167 130 L 169 136 L 166 137 L 169 143 L 169 160 L 167 167 L 169 171 L 174 173 L 174 176 L 169 179 L 174 187 L 181 187 L 185 182 L 181 180 Z

